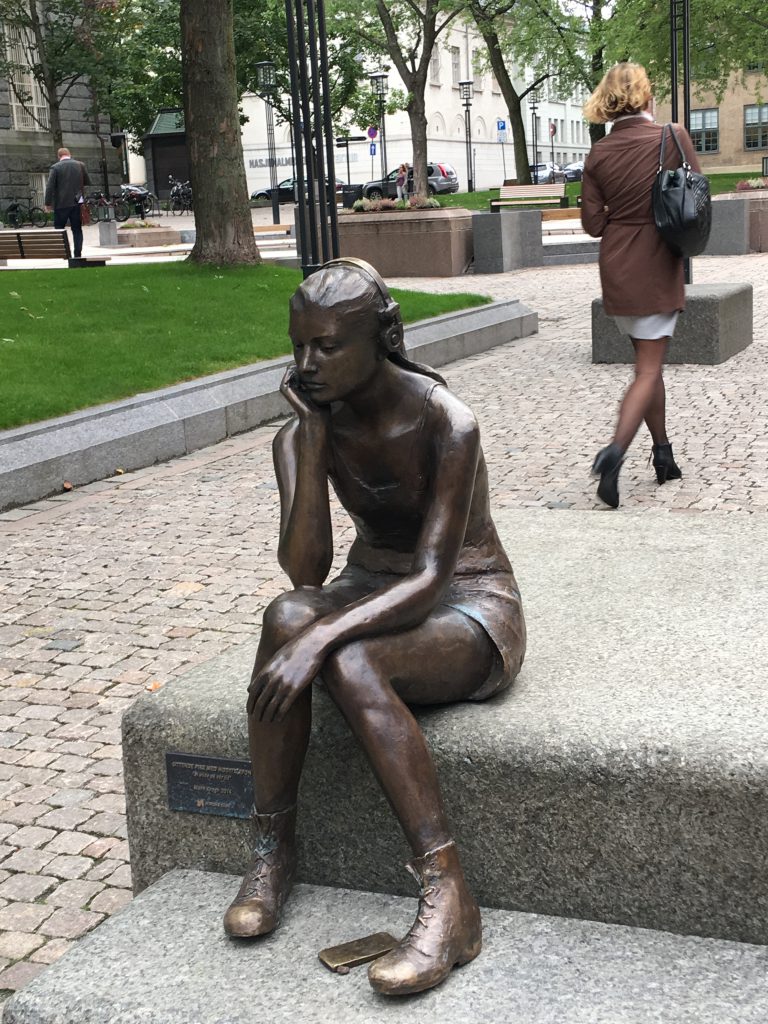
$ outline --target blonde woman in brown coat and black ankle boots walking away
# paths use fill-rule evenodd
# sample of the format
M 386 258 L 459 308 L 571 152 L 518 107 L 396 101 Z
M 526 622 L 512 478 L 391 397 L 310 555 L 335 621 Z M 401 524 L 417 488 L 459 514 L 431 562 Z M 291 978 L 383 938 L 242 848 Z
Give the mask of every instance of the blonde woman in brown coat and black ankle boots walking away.
M 598 497 L 618 507 L 618 471 L 624 455 L 645 420 L 653 439 L 653 466 L 659 483 L 682 476 L 672 454 L 665 419 L 662 368 L 678 313 L 685 307 L 683 260 L 656 230 L 651 187 L 658 170 L 663 126 L 653 121 L 653 97 L 645 69 L 618 63 L 605 75 L 584 113 L 593 124 L 612 129 L 596 142 L 584 167 L 582 223 L 602 236 L 600 283 L 603 308 L 629 334 L 635 348 L 635 379 L 618 411 L 613 438 L 598 452 L 592 467 L 600 476 Z M 687 132 L 674 126 L 688 163 L 698 161 Z M 679 165 L 677 146 L 667 147 L 665 166 Z

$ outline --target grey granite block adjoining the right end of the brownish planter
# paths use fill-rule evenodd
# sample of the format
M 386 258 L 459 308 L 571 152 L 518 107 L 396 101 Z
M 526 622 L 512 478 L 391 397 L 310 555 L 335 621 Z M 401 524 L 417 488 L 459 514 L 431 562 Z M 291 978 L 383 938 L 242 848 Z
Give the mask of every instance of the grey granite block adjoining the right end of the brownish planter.
M 544 263 L 541 210 L 472 215 L 475 273 L 504 273 Z

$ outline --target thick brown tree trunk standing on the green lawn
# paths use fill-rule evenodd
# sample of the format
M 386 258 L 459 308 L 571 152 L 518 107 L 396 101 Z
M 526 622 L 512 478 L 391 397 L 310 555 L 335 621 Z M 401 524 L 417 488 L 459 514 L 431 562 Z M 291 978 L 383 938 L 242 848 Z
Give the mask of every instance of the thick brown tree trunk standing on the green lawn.
M 231 0 L 181 0 L 181 67 L 198 263 L 260 263 L 240 133 Z

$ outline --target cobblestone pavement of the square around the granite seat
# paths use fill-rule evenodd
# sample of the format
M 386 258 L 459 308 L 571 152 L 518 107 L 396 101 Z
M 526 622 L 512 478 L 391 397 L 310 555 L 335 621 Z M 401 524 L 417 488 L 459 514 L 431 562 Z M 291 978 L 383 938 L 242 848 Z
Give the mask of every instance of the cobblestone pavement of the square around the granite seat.
M 638 442 L 623 473 L 623 508 L 765 513 L 768 255 L 699 259 L 694 273 L 754 285 L 756 343 L 721 367 L 668 370 L 685 479 L 656 487 L 648 444 Z M 630 374 L 590 364 L 597 268 L 398 284 L 519 297 L 540 311 L 539 335 L 445 373 L 478 413 L 498 507 L 597 509 L 588 470 Z M 0 515 L 6 995 L 130 899 L 125 709 L 190 666 L 252 644 L 261 609 L 285 589 L 274 557 L 273 432 L 262 427 Z

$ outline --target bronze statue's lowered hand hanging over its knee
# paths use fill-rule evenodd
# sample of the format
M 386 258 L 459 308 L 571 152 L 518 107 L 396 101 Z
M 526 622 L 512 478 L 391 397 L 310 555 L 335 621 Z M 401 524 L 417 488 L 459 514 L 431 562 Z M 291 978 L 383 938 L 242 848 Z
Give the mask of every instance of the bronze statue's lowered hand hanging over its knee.
M 318 645 L 307 631 L 269 658 L 248 687 L 248 714 L 261 722 L 281 722 L 296 697 L 323 667 Z

